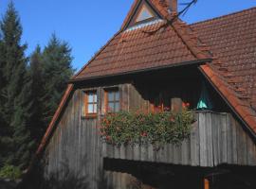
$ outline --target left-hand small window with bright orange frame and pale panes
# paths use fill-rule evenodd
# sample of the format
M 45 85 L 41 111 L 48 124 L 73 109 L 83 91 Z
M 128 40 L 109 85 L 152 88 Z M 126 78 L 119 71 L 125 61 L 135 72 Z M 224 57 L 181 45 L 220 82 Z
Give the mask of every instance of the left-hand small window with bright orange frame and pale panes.
M 86 92 L 85 93 L 85 115 L 96 115 L 97 114 L 97 92 Z

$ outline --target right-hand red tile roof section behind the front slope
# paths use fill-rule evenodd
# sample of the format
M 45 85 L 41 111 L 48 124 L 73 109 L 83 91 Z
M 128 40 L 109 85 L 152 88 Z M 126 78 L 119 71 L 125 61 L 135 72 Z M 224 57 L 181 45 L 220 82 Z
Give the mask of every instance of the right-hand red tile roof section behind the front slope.
M 215 56 L 202 71 L 256 133 L 256 8 L 191 27 Z

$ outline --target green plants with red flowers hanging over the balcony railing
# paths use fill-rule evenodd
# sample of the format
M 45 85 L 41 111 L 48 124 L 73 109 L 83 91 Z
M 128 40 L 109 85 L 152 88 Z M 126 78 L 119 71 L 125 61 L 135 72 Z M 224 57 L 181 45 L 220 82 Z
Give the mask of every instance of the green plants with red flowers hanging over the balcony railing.
M 190 136 L 191 111 L 118 112 L 101 121 L 101 137 L 109 144 L 179 144 Z

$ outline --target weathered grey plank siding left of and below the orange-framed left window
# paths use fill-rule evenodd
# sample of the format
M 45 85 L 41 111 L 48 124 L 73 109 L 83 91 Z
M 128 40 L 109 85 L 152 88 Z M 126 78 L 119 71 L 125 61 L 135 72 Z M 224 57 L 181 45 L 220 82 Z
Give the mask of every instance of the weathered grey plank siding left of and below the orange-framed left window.
M 102 171 L 101 141 L 96 119 L 82 118 L 82 92 L 74 93 L 46 149 L 46 173 L 67 167 L 88 180 L 88 188 L 98 188 Z M 66 171 L 66 170 L 65 170 Z

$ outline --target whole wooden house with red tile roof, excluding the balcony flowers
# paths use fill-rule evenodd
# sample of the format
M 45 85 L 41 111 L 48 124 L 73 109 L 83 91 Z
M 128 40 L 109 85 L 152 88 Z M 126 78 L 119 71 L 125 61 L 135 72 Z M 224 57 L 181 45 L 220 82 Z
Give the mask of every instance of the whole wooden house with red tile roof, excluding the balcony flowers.
M 256 188 L 256 9 L 188 25 L 176 5 L 135 0 L 119 32 L 70 80 L 33 162 L 45 163 L 45 177 L 67 167 L 90 189 Z M 101 139 L 106 113 L 182 102 L 196 121 L 179 145 Z

